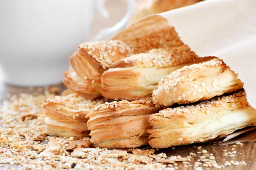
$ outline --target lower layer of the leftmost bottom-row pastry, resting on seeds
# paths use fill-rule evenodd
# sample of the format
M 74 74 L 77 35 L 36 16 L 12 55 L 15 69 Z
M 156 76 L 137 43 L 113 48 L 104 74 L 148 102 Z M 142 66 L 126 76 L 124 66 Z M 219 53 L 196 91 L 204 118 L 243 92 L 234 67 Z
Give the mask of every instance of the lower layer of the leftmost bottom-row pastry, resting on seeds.
M 58 122 L 55 119 L 47 117 L 45 125 L 47 134 L 61 136 L 61 137 L 87 137 L 90 130 L 88 130 L 87 122 Z

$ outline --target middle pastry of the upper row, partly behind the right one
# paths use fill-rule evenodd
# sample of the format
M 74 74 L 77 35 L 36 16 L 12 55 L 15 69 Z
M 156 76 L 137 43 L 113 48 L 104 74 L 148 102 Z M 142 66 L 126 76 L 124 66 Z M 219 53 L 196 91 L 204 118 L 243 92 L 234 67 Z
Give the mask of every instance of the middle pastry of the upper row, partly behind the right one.
M 101 94 L 108 99 L 148 97 L 166 75 L 185 65 L 209 59 L 198 57 L 187 45 L 135 54 L 115 62 L 102 74 Z

